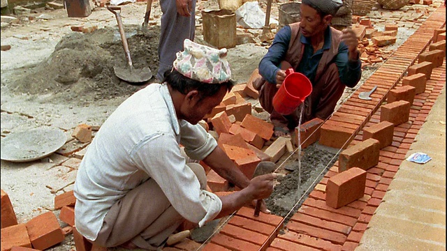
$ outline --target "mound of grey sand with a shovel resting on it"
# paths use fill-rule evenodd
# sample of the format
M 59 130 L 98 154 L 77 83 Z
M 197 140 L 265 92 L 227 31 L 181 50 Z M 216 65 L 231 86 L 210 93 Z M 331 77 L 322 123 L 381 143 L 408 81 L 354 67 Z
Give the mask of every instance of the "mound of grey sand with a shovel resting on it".
M 159 26 L 141 31 L 124 26 L 135 68 L 149 67 L 155 75 L 159 65 Z M 18 93 L 52 93 L 47 101 L 82 98 L 95 101 L 129 96 L 147 83 L 132 85 L 115 76 L 114 66 L 126 68 L 127 61 L 118 29 L 104 28 L 92 33 L 73 32 L 64 36 L 46 60 L 13 82 Z M 149 83 L 155 82 L 155 77 Z M 52 100 L 52 101 L 51 101 Z

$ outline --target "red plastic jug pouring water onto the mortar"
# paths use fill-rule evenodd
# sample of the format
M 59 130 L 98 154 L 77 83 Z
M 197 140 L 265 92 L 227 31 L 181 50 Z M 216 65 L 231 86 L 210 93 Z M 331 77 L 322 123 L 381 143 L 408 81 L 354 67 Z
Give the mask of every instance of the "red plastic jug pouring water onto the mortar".
M 291 114 L 312 93 L 310 80 L 292 68 L 286 70 L 287 77 L 273 97 L 273 108 L 282 115 Z

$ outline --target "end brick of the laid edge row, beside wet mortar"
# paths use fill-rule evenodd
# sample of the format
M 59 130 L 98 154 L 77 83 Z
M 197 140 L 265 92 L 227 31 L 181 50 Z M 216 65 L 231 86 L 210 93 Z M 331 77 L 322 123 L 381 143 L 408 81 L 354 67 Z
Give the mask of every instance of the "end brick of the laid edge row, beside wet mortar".
M 337 149 L 346 149 L 352 140 L 352 135 L 356 130 L 341 126 L 323 124 L 320 128 L 319 144 Z

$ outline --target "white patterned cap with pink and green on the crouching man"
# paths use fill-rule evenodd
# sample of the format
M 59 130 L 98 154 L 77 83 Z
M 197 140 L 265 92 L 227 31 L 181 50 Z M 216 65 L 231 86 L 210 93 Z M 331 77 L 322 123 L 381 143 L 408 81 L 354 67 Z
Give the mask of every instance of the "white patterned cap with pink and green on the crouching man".
M 184 51 L 177 52 L 175 70 L 191 79 L 209 84 L 221 84 L 231 79 L 231 70 L 226 60 L 227 50 L 194 43 L 185 39 Z

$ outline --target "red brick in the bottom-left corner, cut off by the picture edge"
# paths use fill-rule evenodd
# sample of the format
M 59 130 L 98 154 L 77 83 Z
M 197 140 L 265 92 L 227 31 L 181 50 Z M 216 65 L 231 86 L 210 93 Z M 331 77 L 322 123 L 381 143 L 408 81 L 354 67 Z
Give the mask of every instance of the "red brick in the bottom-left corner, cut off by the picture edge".
M 3 227 L 1 229 L 1 251 L 9 251 L 13 246 L 31 248 L 31 241 L 24 224 Z

